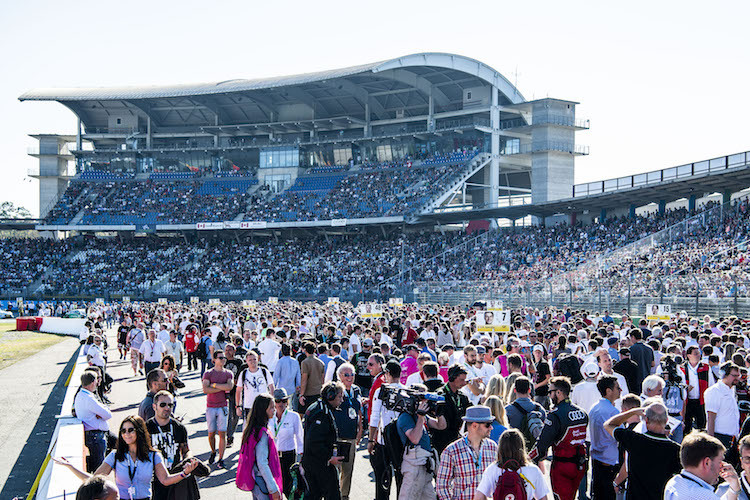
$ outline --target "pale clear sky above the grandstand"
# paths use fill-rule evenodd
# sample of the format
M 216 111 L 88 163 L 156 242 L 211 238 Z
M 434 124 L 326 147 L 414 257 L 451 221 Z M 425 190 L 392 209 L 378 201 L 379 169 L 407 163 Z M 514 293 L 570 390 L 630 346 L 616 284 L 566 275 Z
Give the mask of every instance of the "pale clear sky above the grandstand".
M 750 2 L 4 2 L 0 202 L 38 213 L 28 134 L 74 134 L 40 87 L 223 81 L 418 52 L 478 59 L 527 99 L 580 103 L 575 182 L 750 150 Z

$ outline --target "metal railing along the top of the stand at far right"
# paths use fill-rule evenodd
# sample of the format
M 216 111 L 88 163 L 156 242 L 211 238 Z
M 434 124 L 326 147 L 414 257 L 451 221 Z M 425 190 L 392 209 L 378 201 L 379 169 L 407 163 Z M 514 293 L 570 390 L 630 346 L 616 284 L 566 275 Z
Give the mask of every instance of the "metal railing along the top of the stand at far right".
M 577 198 L 590 196 L 592 194 L 611 193 L 624 189 L 660 184 L 665 181 L 687 179 L 695 175 L 718 173 L 732 168 L 744 167 L 747 166 L 748 163 L 750 163 L 750 151 L 720 156 L 710 160 L 688 163 L 686 165 L 669 167 L 661 170 L 652 170 L 642 174 L 576 184 L 573 186 L 573 197 Z

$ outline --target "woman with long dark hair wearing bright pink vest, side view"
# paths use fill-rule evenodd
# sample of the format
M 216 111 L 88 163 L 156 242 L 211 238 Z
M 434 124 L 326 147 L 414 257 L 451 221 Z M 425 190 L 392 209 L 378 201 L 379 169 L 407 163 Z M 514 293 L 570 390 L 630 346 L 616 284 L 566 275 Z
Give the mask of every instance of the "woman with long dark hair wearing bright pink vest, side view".
M 237 460 L 237 487 L 252 491 L 258 500 L 281 500 L 283 481 L 281 461 L 276 443 L 268 432 L 268 421 L 274 414 L 273 399 L 268 394 L 259 394 L 247 426 L 242 432 L 242 446 Z

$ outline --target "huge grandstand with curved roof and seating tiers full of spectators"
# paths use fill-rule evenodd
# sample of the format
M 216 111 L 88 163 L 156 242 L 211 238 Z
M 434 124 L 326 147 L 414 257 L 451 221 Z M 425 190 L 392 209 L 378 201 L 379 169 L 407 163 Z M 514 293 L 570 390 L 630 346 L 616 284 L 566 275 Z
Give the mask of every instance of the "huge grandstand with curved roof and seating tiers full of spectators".
M 749 152 L 574 184 L 589 127 L 576 103 L 526 101 L 469 58 L 20 99 L 59 102 L 79 126 L 33 136 L 34 227 L 61 238 L 1 242 L 8 298 L 750 314 Z

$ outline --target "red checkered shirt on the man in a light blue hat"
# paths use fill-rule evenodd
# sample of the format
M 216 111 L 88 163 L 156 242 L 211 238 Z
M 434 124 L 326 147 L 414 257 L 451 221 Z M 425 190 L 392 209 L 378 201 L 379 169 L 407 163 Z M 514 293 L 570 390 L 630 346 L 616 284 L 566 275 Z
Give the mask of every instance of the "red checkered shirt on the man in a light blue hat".
M 479 463 L 477 465 L 477 458 Z M 439 500 L 472 500 L 482 479 L 482 473 L 497 460 L 497 443 L 484 439 L 479 448 L 479 457 L 461 437 L 448 445 L 440 455 L 437 473 L 437 497 Z

